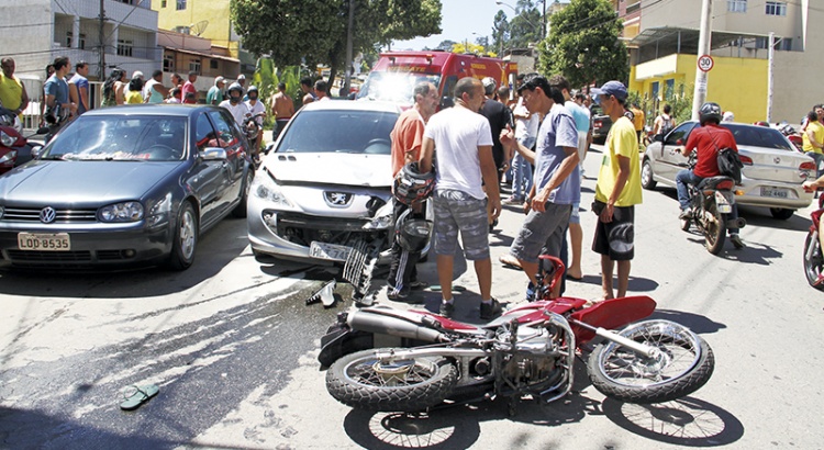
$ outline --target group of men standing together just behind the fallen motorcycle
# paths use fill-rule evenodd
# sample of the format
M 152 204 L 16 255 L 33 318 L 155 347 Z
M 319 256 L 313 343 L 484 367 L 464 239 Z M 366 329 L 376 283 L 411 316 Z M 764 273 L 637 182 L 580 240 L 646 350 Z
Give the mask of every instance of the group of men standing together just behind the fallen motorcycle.
M 500 314 L 492 296 L 492 263 L 489 233 L 501 213 L 501 184 L 511 183 L 503 203 L 520 204 L 526 213 L 509 255 L 501 262 L 523 269 L 524 299 L 535 295 L 541 255 L 567 259 L 567 235 L 572 262 L 567 277 L 580 280 L 580 227 L 582 161 L 591 143 L 587 95 L 574 92 L 561 76 L 538 74 L 519 77 L 515 94 L 495 80 L 460 79 L 455 86 L 455 106 L 434 113 L 434 86 L 419 85 L 414 106 L 403 113 L 391 134 L 393 176 L 410 162 L 420 173 L 436 166 L 434 255 L 442 292 L 442 315 L 455 312 L 453 267 L 460 236 L 464 257 L 472 261 L 481 296 L 480 316 Z M 592 249 L 601 256 L 603 299 L 626 294 L 634 256 L 634 206 L 642 201 L 638 135 L 624 115 L 627 91 L 610 81 L 592 91 L 614 124 L 606 139 L 599 170 L 593 212 L 599 216 Z M 420 202 L 396 202 L 396 213 Z M 398 216 L 398 215 L 397 215 Z M 396 246 L 388 279 L 388 297 L 408 301 L 412 290 L 425 285 L 416 278 L 420 254 Z M 617 286 L 612 274 L 617 266 Z M 556 286 L 554 295 L 560 294 Z

